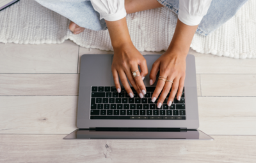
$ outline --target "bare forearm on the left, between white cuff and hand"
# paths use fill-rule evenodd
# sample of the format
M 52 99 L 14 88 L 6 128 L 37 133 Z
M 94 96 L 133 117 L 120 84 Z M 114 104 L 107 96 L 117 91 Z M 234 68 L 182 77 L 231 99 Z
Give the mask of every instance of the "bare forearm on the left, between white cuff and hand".
M 122 18 L 114 22 L 106 21 L 106 24 L 108 26 L 109 36 L 114 50 L 115 48 L 119 48 L 125 44 L 132 43 L 126 18 Z

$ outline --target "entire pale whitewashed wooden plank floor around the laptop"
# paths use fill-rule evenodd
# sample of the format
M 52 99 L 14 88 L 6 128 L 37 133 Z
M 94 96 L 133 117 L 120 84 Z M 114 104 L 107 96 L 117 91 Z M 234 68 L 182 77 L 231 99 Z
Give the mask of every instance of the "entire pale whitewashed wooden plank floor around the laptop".
M 256 162 L 255 59 L 190 50 L 200 130 L 214 141 L 63 140 L 76 129 L 84 53 L 112 52 L 0 43 L 0 162 Z

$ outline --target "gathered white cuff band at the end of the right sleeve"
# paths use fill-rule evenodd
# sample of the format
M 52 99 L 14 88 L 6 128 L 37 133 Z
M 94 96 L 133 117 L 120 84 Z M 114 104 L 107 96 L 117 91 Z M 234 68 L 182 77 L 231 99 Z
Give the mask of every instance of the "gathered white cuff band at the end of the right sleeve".
M 185 11 L 182 11 L 182 10 L 179 10 L 179 15 L 178 15 L 178 18 L 182 23 L 186 25 L 191 25 L 191 26 L 200 24 L 203 17 L 189 15 L 189 13 L 186 13 Z

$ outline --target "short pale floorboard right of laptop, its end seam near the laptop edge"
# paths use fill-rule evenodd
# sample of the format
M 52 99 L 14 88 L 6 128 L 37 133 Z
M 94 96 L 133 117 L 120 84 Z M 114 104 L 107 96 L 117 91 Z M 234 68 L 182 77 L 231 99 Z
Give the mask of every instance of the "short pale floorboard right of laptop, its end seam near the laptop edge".
M 256 74 L 200 74 L 202 96 L 256 96 Z

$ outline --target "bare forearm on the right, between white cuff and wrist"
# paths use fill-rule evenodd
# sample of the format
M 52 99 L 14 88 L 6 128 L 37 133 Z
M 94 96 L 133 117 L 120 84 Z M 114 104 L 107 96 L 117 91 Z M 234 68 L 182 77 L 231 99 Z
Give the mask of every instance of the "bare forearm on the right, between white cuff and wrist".
M 178 19 L 172 41 L 168 47 L 167 53 L 179 52 L 180 55 L 186 57 L 191 45 L 191 41 L 198 25 L 189 26 Z

